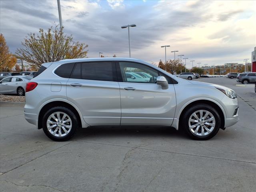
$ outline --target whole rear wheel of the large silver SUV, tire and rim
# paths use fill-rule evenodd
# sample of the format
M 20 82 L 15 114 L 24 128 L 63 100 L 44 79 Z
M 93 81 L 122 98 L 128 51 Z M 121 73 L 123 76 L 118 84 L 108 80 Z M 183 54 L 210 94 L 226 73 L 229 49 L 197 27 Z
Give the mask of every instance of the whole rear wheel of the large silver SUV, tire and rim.
M 66 107 L 54 107 L 42 119 L 43 130 L 54 141 L 67 141 L 74 136 L 78 120 L 74 112 Z

